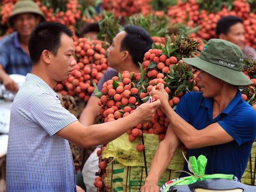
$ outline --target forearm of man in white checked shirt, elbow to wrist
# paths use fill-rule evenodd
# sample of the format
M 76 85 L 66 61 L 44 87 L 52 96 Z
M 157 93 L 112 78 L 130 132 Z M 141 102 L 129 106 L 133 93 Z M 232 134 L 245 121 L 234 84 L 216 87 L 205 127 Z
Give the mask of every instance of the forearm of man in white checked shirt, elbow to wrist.
M 88 126 L 82 138 L 83 143 L 86 143 L 85 147 L 108 143 L 140 123 L 138 119 L 138 116 L 132 113 L 116 121 Z

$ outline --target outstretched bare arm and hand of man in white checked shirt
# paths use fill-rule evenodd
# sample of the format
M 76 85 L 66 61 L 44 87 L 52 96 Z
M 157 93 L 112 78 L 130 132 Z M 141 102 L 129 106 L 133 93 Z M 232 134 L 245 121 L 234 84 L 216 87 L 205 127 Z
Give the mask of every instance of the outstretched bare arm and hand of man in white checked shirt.
M 160 104 L 160 101 L 144 103 L 126 117 L 98 125 L 83 126 L 75 121 L 56 134 L 83 147 L 108 143 L 137 124 L 151 121 Z

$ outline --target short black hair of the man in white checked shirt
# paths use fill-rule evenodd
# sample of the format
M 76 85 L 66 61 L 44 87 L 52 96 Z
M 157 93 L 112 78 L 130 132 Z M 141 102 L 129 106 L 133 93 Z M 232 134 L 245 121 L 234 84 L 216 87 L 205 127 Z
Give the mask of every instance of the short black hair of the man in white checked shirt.
M 60 36 L 73 36 L 73 32 L 64 24 L 57 22 L 43 22 L 38 24 L 30 34 L 28 50 L 33 65 L 39 62 L 43 50 L 56 55 L 60 47 Z

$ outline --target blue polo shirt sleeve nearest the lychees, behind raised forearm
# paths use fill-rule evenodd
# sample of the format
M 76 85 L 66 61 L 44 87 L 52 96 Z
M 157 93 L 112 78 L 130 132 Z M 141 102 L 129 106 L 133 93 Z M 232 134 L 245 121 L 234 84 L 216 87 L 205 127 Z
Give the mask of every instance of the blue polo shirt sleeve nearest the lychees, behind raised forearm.
M 179 104 L 176 106 L 176 113 L 182 117 L 186 122 L 189 122 L 190 120 L 190 112 L 189 112 L 189 98 L 191 97 L 190 93 L 186 93 L 181 100 L 179 101 Z

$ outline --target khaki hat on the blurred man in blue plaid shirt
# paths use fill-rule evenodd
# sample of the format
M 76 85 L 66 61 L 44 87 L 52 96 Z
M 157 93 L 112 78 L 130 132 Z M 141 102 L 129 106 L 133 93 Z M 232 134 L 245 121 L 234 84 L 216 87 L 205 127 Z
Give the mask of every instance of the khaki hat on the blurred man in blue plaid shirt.
M 11 12 L 10 17 L 8 18 L 8 22 L 11 26 L 13 26 L 14 16 L 23 13 L 34 13 L 41 16 L 41 21 L 45 21 L 45 15 L 39 9 L 38 5 L 32 0 L 20 0 L 14 4 L 13 10 Z

